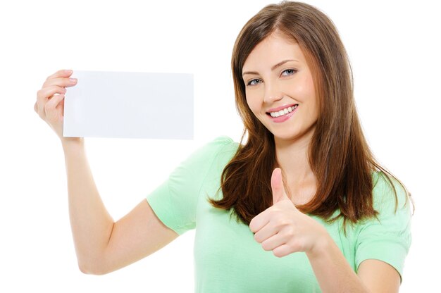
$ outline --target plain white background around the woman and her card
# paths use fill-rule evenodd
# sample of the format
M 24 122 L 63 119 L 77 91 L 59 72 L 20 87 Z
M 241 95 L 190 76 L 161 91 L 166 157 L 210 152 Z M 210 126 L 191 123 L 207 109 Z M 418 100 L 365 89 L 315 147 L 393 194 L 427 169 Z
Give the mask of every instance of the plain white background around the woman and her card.
M 0 292 L 193 292 L 194 230 L 115 273 L 80 273 L 63 152 L 33 110 L 36 92 L 63 68 L 194 73 L 194 141 L 87 139 L 101 197 L 117 220 L 198 146 L 220 135 L 238 141 L 242 125 L 234 105 L 232 46 L 244 23 L 271 2 L 11 3 L 0 4 Z M 352 61 L 366 137 L 416 201 L 401 292 L 436 291 L 441 262 L 436 1 L 308 3 L 337 25 Z

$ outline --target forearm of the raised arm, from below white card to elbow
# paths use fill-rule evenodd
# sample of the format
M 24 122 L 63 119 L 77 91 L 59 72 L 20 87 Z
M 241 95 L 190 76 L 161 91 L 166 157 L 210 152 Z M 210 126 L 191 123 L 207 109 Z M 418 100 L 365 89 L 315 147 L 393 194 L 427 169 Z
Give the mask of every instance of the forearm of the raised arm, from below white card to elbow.
M 68 177 L 68 201 L 78 265 L 83 273 L 99 270 L 111 239 L 113 219 L 106 211 L 87 162 L 82 139 L 62 139 Z

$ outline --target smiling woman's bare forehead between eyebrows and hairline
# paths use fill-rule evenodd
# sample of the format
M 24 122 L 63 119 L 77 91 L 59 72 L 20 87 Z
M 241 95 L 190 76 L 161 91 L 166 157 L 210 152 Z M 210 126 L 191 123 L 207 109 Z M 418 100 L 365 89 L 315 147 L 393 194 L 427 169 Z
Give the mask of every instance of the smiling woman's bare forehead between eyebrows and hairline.
M 294 59 L 306 63 L 306 58 L 299 44 L 281 32 L 273 32 L 257 44 L 244 62 L 245 70 L 263 70 L 282 60 Z

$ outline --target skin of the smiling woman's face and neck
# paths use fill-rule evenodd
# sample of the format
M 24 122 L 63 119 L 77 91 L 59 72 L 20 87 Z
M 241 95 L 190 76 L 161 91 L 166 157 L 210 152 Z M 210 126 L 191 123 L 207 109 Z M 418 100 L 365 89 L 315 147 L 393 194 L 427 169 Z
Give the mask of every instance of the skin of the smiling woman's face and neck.
M 287 62 L 272 69 L 281 61 Z M 274 135 L 275 154 L 287 178 L 288 194 L 296 204 L 308 202 L 316 189 L 307 153 L 316 128 L 318 101 L 302 50 L 297 43 L 275 33 L 251 51 L 242 73 L 249 108 Z M 299 106 L 283 123 L 275 123 L 267 115 L 271 108 L 291 104 Z

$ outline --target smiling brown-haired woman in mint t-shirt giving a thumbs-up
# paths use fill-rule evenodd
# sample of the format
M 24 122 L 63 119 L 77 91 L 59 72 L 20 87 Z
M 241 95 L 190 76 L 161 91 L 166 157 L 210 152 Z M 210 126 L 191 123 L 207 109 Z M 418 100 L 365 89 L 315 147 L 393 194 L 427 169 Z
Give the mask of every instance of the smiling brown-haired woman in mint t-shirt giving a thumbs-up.
M 108 273 L 196 228 L 197 292 L 398 292 L 408 193 L 368 149 L 333 23 L 307 4 L 266 6 L 237 37 L 232 73 L 244 144 L 215 139 L 116 223 L 83 139 L 62 135 L 77 80 L 44 82 L 35 111 L 65 152 L 80 269 Z

